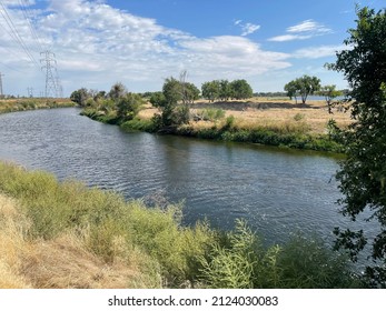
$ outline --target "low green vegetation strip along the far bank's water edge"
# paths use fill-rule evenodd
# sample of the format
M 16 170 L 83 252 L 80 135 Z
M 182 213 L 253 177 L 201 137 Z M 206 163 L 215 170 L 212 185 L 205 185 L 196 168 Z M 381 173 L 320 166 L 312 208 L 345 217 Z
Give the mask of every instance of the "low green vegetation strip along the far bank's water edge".
M 230 116 L 220 122 L 214 122 L 210 127 L 197 127 L 191 122 L 189 124 L 162 128 L 157 123 L 157 118 L 143 120 L 136 117 L 130 121 L 122 122 L 113 114 L 105 114 L 92 109 L 86 109 L 81 114 L 103 123 L 118 124 L 125 131 L 168 133 L 208 140 L 259 143 L 280 148 L 295 148 L 334 153 L 344 152 L 343 144 L 339 143 L 339 139 L 336 138 L 336 136 L 311 134 L 308 133 L 303 126 L 287 128 L 243 128 L 238 126 L 236 119 Z

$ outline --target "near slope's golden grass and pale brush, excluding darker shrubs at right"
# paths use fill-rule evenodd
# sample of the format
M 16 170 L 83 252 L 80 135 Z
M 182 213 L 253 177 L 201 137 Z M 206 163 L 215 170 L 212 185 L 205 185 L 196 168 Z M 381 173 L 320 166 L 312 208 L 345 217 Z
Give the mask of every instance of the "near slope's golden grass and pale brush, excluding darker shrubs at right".
M 0 162 L 0 288 L 177 287 L 212 237 L 179 214 Z

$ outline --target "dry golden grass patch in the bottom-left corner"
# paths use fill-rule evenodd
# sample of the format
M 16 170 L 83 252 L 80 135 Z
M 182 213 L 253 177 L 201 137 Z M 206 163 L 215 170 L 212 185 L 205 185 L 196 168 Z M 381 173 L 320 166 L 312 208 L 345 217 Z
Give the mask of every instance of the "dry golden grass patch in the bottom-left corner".
M 146 287 L 136 264 L 107 264 L 72 232 L 30 240 L 20 203 L 0 193 L 0 289 Z

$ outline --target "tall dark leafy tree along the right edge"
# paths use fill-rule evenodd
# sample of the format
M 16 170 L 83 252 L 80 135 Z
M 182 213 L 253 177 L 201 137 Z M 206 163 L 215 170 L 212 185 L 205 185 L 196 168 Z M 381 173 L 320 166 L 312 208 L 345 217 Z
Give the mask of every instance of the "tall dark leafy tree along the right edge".
M 350 86 L 354 119 L 345 132 L 347 158 L 337 173 L 344 194 L 339 204 L 353 221 L 366 212 L 377 232 L 336 228 L 336 247 L 347 249 L 355 261 L 370 241 L 374 261 L 366 275 L 375 287 L 386 288 L 386 9 L 376 13 L 357 7 L 357 17 L 345 40 L 348 48 L 329 66 Z

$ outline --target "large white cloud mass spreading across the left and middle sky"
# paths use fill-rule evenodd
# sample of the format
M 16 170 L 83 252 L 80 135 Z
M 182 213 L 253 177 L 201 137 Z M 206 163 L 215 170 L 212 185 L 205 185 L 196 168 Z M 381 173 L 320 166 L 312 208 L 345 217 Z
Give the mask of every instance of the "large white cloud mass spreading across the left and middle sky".
M 16 7 L 9 8 L 9 12 L 39 62 L 42 49 L 31 37 L 22 11 Z M 164 78 L 178 76 L 182 69 L 188 70 L 192 82 L 201 83 L 219 78 L 248 79 L 290 66 L 289 54 L 265 51 L 245 38 L 259 26 L 243 21 L 235 23 L 243 24 L 244 37 L 197 38 L 102 1 L 50 0 L 46 9 L 33 12 L 43 49 L 56 53 L 67 96 L 81 87 L 108 90 L 116 81 L 122 81 L 129 89 L 140 82 L 140 91 L 159 89 Z M 33 68 L 8 33 L 0 33 L 0 47 L 1 62 L 21 70 Z M 24 84 L 13 83 L 13 88 L 22 91 L 12 92 L 23 92 L 38 81 L 39 86 L 32 87 L 42 88 L 40 68 L 40 63 L 34 66 L 36 77 Z M 14 71 L 12 76 L 18 73 Z M 7 77 L 11 79 L 10 74 Z

